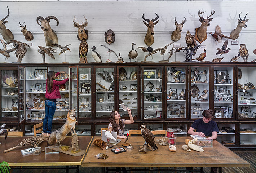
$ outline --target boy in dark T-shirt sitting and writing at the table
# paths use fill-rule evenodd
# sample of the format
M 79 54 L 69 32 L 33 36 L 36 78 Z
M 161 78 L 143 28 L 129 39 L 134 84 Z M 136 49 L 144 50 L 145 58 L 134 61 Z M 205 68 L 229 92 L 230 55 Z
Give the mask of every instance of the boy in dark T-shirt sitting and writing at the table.
M 212 121 L 213 115 L 213 110 L 204 110 L 203 118 L 195 120 L 187 133 L 192 135 L 198 135 L 200 137 L 209 136 L 207 139 L 216 139 L 217 133 L 219 132 L 219 128 L 217 126 L 217 123 L 215 121 Z M 194 130 L 196 130 L 196 132 Z M 217 171 L 217 167 L 211 167 L 211 173 L 217 173 Z

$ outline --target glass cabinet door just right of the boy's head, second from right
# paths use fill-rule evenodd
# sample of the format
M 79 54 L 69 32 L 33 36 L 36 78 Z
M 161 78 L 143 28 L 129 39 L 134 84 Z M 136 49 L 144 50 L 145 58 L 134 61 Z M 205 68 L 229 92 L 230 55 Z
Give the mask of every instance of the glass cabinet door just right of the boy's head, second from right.
M 233 67 L 213 67 L 214 118 L 233 118 Z

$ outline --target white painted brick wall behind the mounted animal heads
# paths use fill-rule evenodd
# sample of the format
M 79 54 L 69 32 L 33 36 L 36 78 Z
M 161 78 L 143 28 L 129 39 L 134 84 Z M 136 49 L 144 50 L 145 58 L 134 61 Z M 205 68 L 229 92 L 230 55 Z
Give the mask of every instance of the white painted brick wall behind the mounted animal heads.
M 224 55 L 222 62 L 229 62 L 229 60 L 237 55 L 239 46 L 246 44 L 249 50 L 249 60 L 252 61 L 256 56 L 252 53 L 256 48 L 256 11 L 255 1 L 101 1 L 101 2 L 1 2 L 0 6 L 0 18 L 5 17 L 7 14 L 6 5 L 10 9 L 10 16 L 8 17 L 8 23 L 6 27 L 9 28 L 14 34 L 14 40 L 28 43 L 25 40 L 18 27 L 19 22 L 25 22 L 27 29 L 33 32 L 34 40 L 31 42 L 33 46 L 28 48 L 26 56 L 22 62 L 26 63 L 41 63 L 41 54 L 37 53 L 38 46 L 45 46 L 45 40 L 43 31 L 36 23 L 37 16 L 41 15 L 44 18 L 48 15 L 54 15 L 59 19 L 59 25 L 56 26 L 56 22 L 52 20 L 50 22 L 54 31 L 57 32 L 60 45 L 71 44 L 69 48 L 71 52 L 67 52 L 67 62 L 78 63 L 78 48 L 79 40 L 76 38 L 77 28 L 73 26 L 73 17 L 80 21 L 83 20 L 83 15 L 88 19 L 88 26 L 86 29 L 89 31 L 89 39 L 87 43 L 89 48 L 96 46 L 96 51 L 101 55 L 102 61 L 105 62 L 109 58 L 105 48 L 99 46 L 99 44 L 105 44 L 104 33 L 108 29 L 112 29 L 116 34 L 115 43 L 109 45 L 109 48 L 116 53 L 121 53 L 121 56 L 125 61 L 129 61 L 128 53 L 131 50 L 131 43 L 136 43 L 137 46 L 146 46 L 144 44 L 144 37 L 146 35 L 146 26 L 142 23 L 142 14 L 145 13 L 145 17 L 148 19 L 155 18 L 155 13 L 159 15 L 159 22 L 154 27 L 155 31 L 155 43 L 152 45 L 153 49 L 162 47 L 171 42 L 171 33 L 175 30 L 174 18 L 177 17 L 177 21 L 181 22 L 183 17 L 186 17 L 187 22 L 184 24 L 181 39 L 176 42 L 181 46 L 186 46 L 185 36 L 186 31 L 190 30 L 192 34 L 195 32 L 195 27 L 200 26 L 198 10 L 203 9 L 205 16 L 211 14 L 211 9 L 214 9 L 216 13 L 213 15 L 211 25 L 208 27 L 208 32 L 214 32 L 215 27 L 219 24 L 224 35 L 229 36 L 231 30 L 237 26 L 237 19 L 239 19 L 239 13 L 242 12 L 241 17 L 248 13 L 247 28 L 243 28 L 238 38 L 239 45 L 231 45 L 229 40 L 228 47 L 231 51 Z M 189 14 L 190 12 L 190 14 Z M 230 15 L 229 15 L 230 14 Z M 236 14 L 236 15 L 235 15 Z M 233 19 L 234 18 L 234 19 Z M 0 38 L 2 38 L 0 36 Z M 214 41 L 213 37 L 208 34 L 206 41 L 202 45 L 207 46 L 207 57 L 205 60 L 212 61 L 215 58 L 216 48 L 221 48 L 222 44 Z M 171 49 L 171 46 L 169 46 Z M 168 50 L 169 50 L 168 49 Z M 62 63 L 65 61 L 65 54 L 61 56 L 54 53 L 55 60 L 46 55 L 46 62 L 48 63 Z M 139 55 L 137 61 L 144 60 L 144 52 L 137 50 Z M 197 56 L 202 53 L 203 50 L 197 51 Z M 220 56 L 218 56 L 220 57 Z M 221 56 L 222 57 L 222 56 Z M 165 59 L 168 55 L 165 56 Z M 155 62 L 161 60 L 160 53 L 154 55 Z M 117 61 L 114 54 L 111 55 L 112 61 Z M 148 57 L 151 60 L 151 57 Z M 176 55 L 176 61 L 184 61 L 184 53 L 180 52 Z M 0 62 L 4 61 L 4 57 L 1 56 Z M 11 53 L 11 58 L 6 62 L 16 62 L 17 58 L 14 52 Z M 92 62 L 94 59 L 91 56 L 91 52 L 88 53 L 88 62 Z M 175 55 L 170 59 L 175 61 Z M 239 59 L 242 61 L 242 58 Z

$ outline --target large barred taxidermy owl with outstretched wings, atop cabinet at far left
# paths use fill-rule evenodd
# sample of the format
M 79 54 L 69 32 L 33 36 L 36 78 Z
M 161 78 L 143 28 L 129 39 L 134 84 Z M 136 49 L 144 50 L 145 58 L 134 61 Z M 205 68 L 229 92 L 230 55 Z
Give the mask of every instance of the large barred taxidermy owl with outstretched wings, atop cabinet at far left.
M 22 58 L 26 55 L 27 49 L 26 46 L 30 48 L 29 45 L 26 43 L 22 43 L 20 41 L 11 40 L 5 43 L 5 45 L 13 43 L 14 48 L 17 48 L 16 52 L 14 53 L 15 56 L 18 58 L 17 62 L 21 62 Z

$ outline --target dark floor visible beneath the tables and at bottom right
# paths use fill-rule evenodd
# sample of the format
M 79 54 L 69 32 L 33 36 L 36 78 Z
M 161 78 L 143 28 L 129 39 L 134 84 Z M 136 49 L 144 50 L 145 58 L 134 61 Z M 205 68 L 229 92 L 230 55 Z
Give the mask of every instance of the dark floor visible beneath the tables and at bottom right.
M 251 167 L 248 168 L 222 168 L 222 173 L 256 173 L 256 151 L 234 151 L 236 154 L 241 156 L 243 159 L 247 160 L 251 163 Z M 171 159 L 171 158 L 170 158 Z M 154 168 L 155 169 L 155 168 Z M 167 168 L 163 168 L 167 169 Z M 177 169 L 185 169 L 185 168 L 177 168 Z M 22 170 L 22 173 L 65 173 L 64 169 L 57 170 Z M 74 173 L 75 170 L 70 170 L 70 173 Z M 205 173 L 210 173 L 210 168 L 204 168 Z M 20 173 L 19 170 L 13 170 L 13 173 Z M 99 167 L 80 167 L 80 173 L 101 173 L 101 168 Z M 112 172 L 114 173 L 114 172 Z M 128 172 L 129 173 L 129 172 Z M 133 173 L 145 173 L 133 171 Z M 151 173 L 157 173 L 152 172 Z M 174 172 L 166 172 L 166 173 L 174 173 Z

